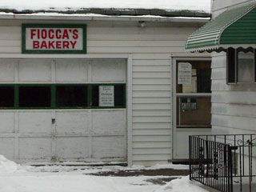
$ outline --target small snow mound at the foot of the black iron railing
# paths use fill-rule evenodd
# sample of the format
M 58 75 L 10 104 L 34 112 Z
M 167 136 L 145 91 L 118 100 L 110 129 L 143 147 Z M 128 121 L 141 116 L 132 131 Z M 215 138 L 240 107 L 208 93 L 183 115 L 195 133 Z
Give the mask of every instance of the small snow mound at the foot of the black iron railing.
M 191 182 L 189 176 L 174 179 L 168 182 L 165 186 L 160 187 L 154 192 L 207 192 L 207 190 L 202 189 L 197 182 Z

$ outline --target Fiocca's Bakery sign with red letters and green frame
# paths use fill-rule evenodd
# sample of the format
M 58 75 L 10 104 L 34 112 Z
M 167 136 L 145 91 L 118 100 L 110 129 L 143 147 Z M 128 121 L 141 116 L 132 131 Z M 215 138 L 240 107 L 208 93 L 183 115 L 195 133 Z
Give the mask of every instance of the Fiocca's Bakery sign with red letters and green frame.
M 22 24 L 22 54 L 86 54 L 86 25 Z

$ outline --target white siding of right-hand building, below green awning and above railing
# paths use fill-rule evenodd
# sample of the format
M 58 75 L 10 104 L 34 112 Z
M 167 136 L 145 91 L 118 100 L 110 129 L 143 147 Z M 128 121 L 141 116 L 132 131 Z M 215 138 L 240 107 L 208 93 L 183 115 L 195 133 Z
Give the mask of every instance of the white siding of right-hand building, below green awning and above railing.
M 256 85 L 226 85 L 226 54 L 212 56 L 212 133 L 255 134 Z

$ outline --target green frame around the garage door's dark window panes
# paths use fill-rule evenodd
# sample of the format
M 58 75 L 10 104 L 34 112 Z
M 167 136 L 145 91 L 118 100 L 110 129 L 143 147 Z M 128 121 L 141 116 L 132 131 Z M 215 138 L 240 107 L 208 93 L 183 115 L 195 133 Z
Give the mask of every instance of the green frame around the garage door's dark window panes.
M 66 83 L 66 84 L 0 84 L 2 86 L 14 87 L 14 106 L 2 107 L 0 110 L 58 110 L 58 109 L 118 109 L 126 108 L 126 83 Z M 22 107 L 19 106 L 19 88 L 24 86 L 48 86 L 50 87 L 50 106 L 49 107 Z M 56 105 L 56 87 L 57 86 L 86 86 L 86 106 L 57 106 Z M 93 105 L 93 87 L 95 86 L 122 86 L 122 106 L 94 106 Z

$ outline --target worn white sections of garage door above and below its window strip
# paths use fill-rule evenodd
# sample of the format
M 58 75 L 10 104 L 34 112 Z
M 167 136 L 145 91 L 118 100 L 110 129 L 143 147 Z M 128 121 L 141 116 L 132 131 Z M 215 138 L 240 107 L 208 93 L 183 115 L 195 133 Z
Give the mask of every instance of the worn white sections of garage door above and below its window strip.
M 123 58 L 0 59 L 0 83 L 126 83 Z M 0 110 L 0 154 L 17 162 L 126 161 L 126 109 Z

